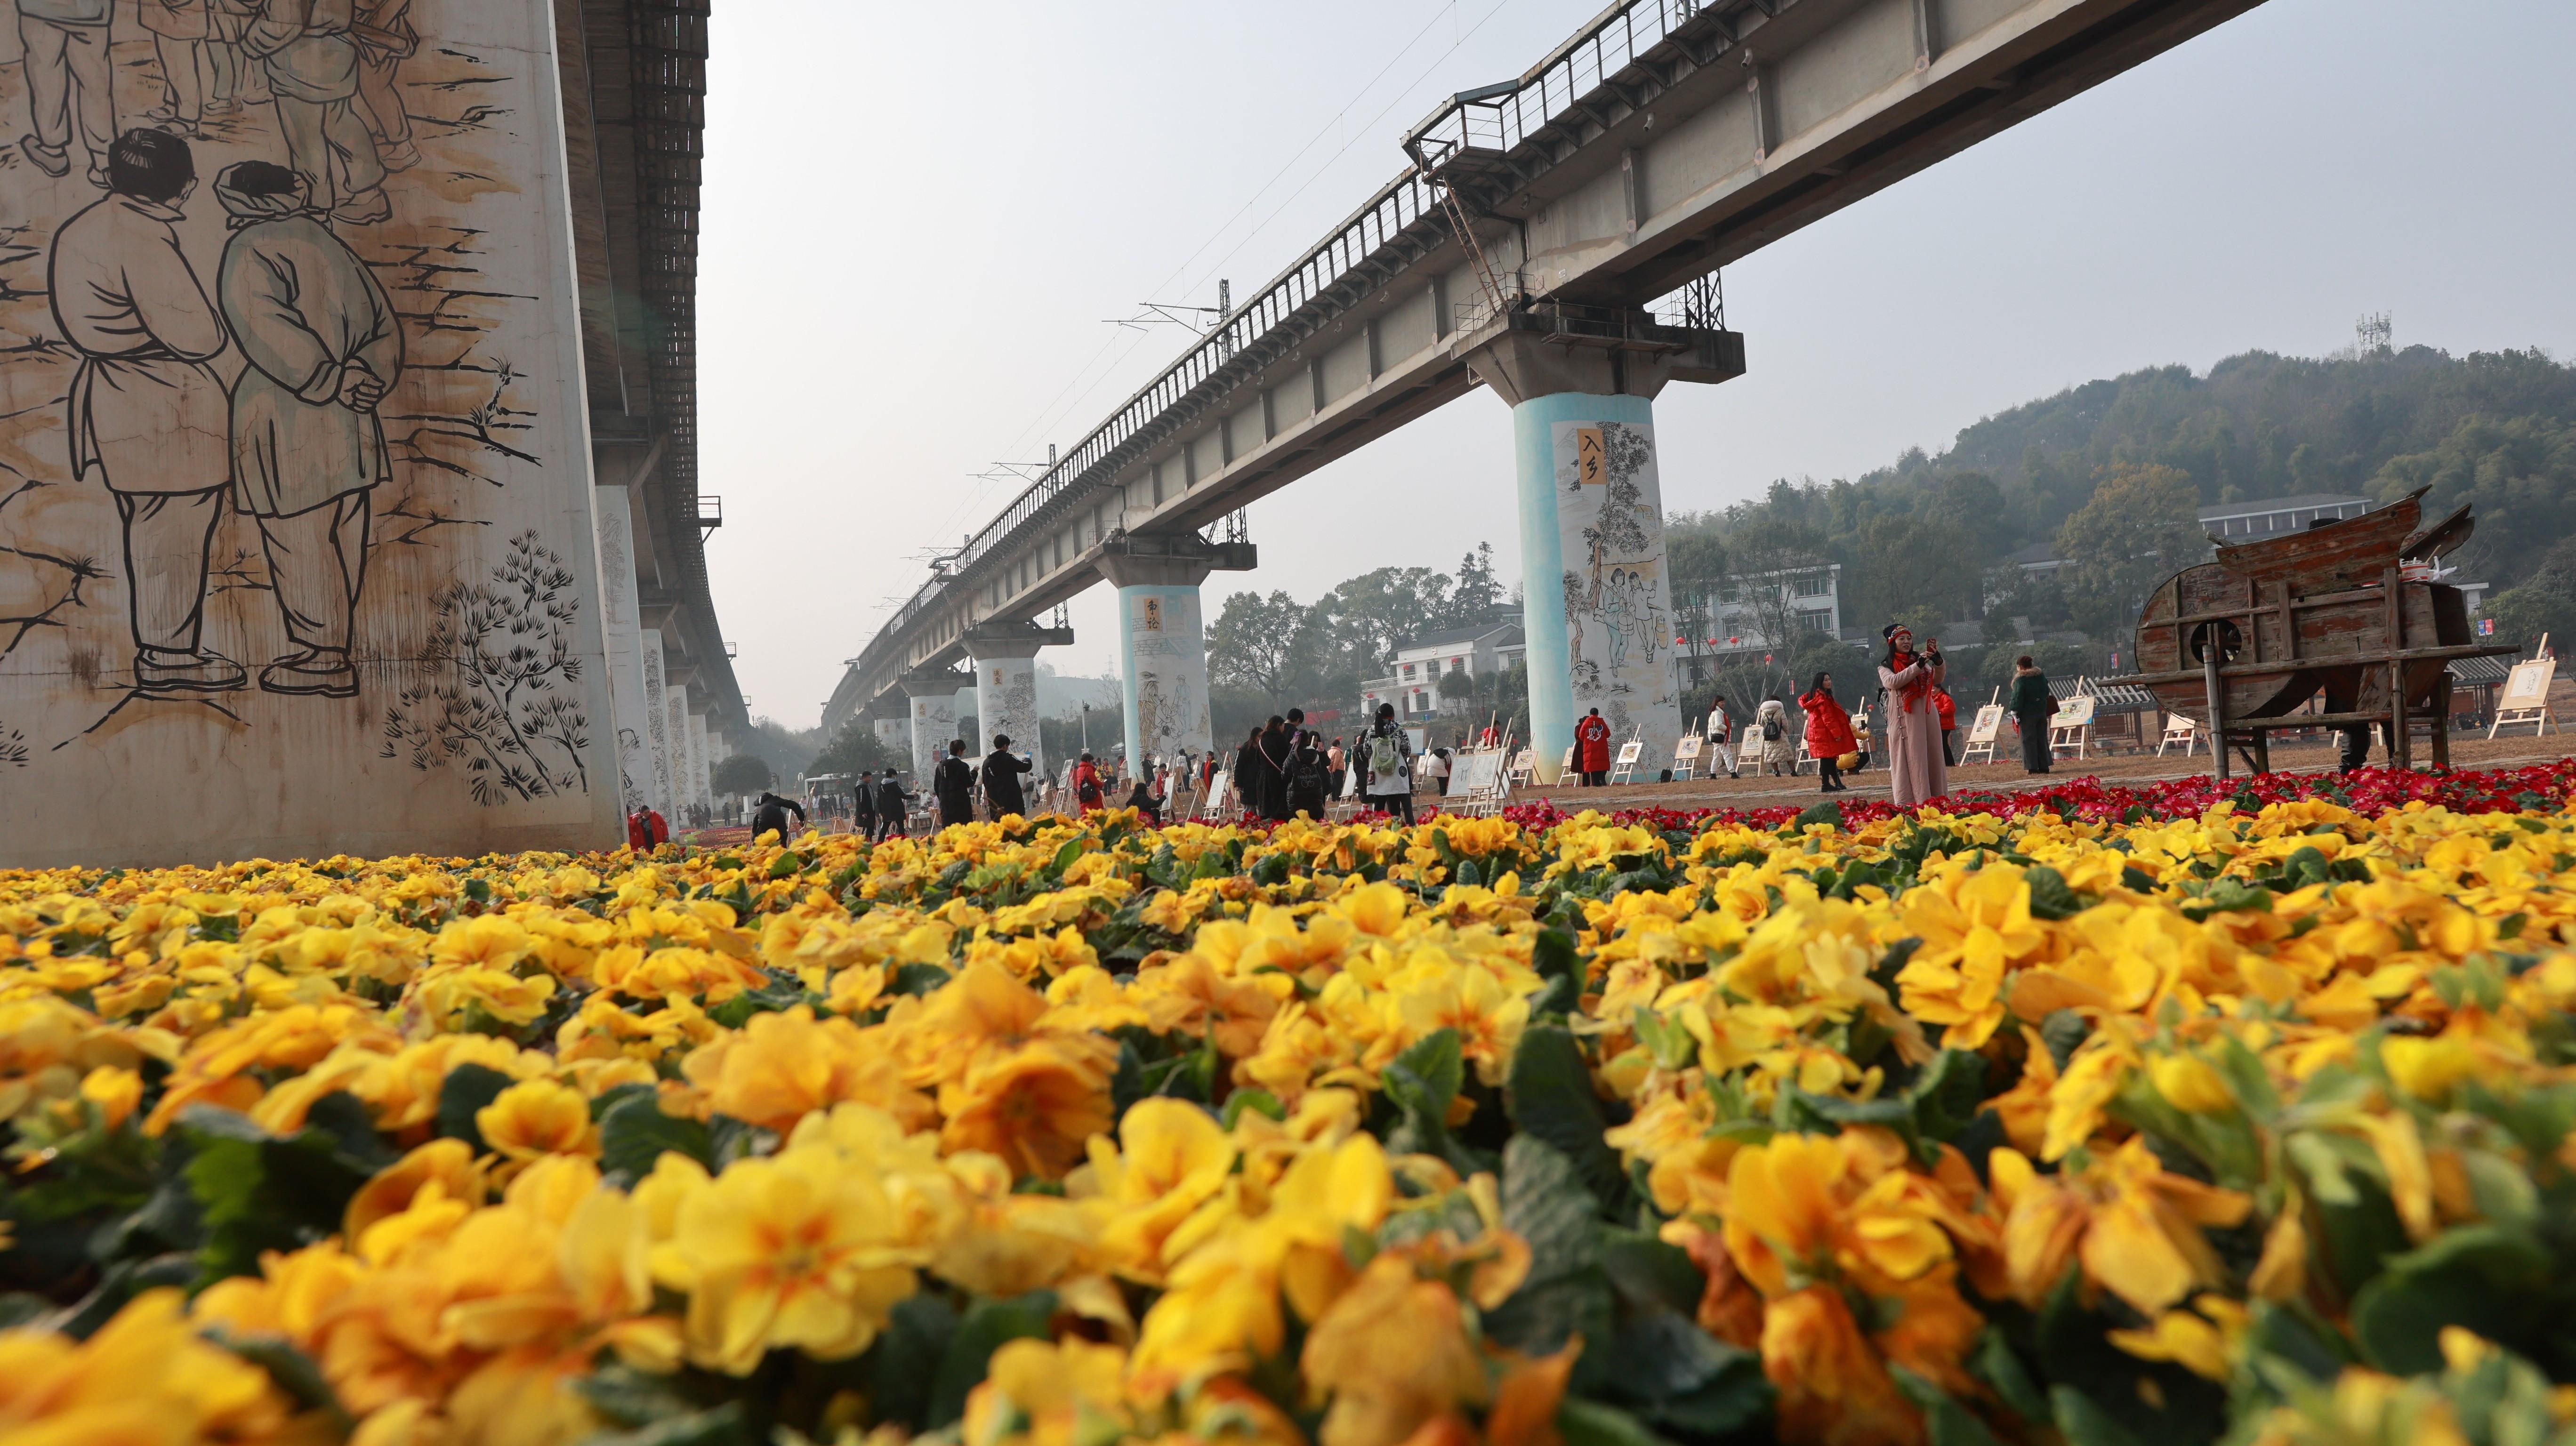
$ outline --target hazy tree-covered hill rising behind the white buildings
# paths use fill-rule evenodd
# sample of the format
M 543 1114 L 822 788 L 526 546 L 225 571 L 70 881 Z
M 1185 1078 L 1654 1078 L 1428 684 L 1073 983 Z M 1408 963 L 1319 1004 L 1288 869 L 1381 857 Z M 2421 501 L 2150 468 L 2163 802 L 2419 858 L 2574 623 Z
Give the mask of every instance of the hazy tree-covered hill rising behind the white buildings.
M 1775 482 L 1759 503 L 1674 518 L 1674 572 L 1687 588 L 1783 546 L 1814 549 L 1844 564 L 1852 624 L 1958 619 L 2009 583 L 2017 549 L 2076 541 L 2069 518 L 2107 482 L 2182 513 L 2298 492 L 2388 500 L 2432 485 L 2429 508 L 2476 503 L 2478 536 L 2460 564 L 2506 588 L 2576 528 L 2576 369 L 2540 351 L 2463 358 L 2380 345 L 2331 358 L 2249 351 L 2205 374 L 2130 371 L 1991 415 L 1940 456 L 1914 448 L 1850 482 Z M 2117 598 L 2084 603 L 2022 595 L 2014 611 L 2071 606 L 2071 621 L 2105 629 L 2120 611 Z

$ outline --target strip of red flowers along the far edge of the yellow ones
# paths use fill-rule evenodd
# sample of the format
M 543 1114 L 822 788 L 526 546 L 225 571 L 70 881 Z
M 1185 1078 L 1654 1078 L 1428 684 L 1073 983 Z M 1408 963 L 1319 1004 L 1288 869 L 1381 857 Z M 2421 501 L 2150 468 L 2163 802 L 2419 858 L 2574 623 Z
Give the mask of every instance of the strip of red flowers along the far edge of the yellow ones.
M 2576 758 L 2532 763 L 2524 768 L 2463 768 L 2463 771 L 2396 771 L 2362 768 L 2357 773 L 2257 773 L 2218 784 L 2213 776 L 2166 778 L 2161 784 L 2105 784 L 2102 778 L 2066 778 L 2045 789 L 1958 789 L 1940 799 L 1942 812 L 2012 817 L 2030 809 L 2056 809 L 2087 822 L 2123 822 L 2133 817 L 2200 817 L 2210 804 L 2233 799 L 2241 809 L 2290 799 L 2331 799 L 2360 815 L 2401 809 L 2406 804 L 2445 807 L 2452 812 L 2522 812 L 2558 809 L 2576 791 Z M 1754 827 L 1780 827 L 1806 812 L 1808 804 L 1770 804 L 1759 809 L 1597 809 L 1618 822 L 1641 822 L 1656 830 L 1700 830 L 1710 822 L 1744 822 Z M 2133 812 L 2136 809 L 2136 812 Z M 1582 809 L 1574 809 L 1582 812 Z M 1522 827 L 1548 827 L 1574 817 L 1553 802 L 1512 804 L 1502 817 Z M 1896 815 L 1886 799 L 1842 799 L 1847 822 L 1875 822 Z

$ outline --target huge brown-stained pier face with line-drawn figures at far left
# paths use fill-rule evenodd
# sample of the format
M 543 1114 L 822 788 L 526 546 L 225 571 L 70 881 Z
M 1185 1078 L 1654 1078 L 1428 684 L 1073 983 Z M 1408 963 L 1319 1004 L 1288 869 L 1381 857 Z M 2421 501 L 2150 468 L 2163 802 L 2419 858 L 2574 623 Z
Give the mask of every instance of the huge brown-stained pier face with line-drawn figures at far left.
M 613 843 L 554 8 L 13 10 L 0 866 Z

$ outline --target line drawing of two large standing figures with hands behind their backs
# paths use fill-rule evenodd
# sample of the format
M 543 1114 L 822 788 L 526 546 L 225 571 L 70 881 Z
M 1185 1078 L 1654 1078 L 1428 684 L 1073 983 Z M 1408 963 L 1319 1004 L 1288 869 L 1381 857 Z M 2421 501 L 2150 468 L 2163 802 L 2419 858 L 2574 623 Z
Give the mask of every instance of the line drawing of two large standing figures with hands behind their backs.
M 54 232 L 54 325 L 80 351 L 67 394 L 72 477 L 116 497 L 134 626 L 134 691 L 229 693 L 240 662 L 204 644 L 214 528 L 255 518 L 291 650 L 260 688 L 350 699 L 350 626 L 366 583 L 371 495 L 392 477 L 376 405 L 402 374 L 402 322 L 317 209 L 312 180 L 265 160 L 224 168 L 232 229 L 214 296 L 175 224 L 196 193 L 188 142 L 121 134 L 108 196 Z M 237 345 L 240 381 L 214 358 Z

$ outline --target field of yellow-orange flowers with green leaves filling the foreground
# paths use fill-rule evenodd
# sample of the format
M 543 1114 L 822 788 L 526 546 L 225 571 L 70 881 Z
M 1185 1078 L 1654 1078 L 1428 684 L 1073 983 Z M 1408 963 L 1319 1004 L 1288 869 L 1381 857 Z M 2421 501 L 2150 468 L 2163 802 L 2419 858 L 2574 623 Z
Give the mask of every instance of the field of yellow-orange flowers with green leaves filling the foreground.
M 0 874 L 0 1441 L 2576 1441 L 2522 799 Z

